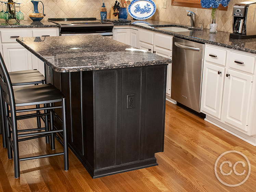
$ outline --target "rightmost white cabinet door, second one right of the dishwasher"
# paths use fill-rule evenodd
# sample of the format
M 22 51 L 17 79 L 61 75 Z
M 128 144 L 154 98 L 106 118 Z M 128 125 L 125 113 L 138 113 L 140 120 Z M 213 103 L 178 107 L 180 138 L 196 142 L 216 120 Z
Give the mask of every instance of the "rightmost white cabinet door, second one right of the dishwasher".
M 226 75 L 223 120 L 247 132 L 253 76 L 232 69 Z

